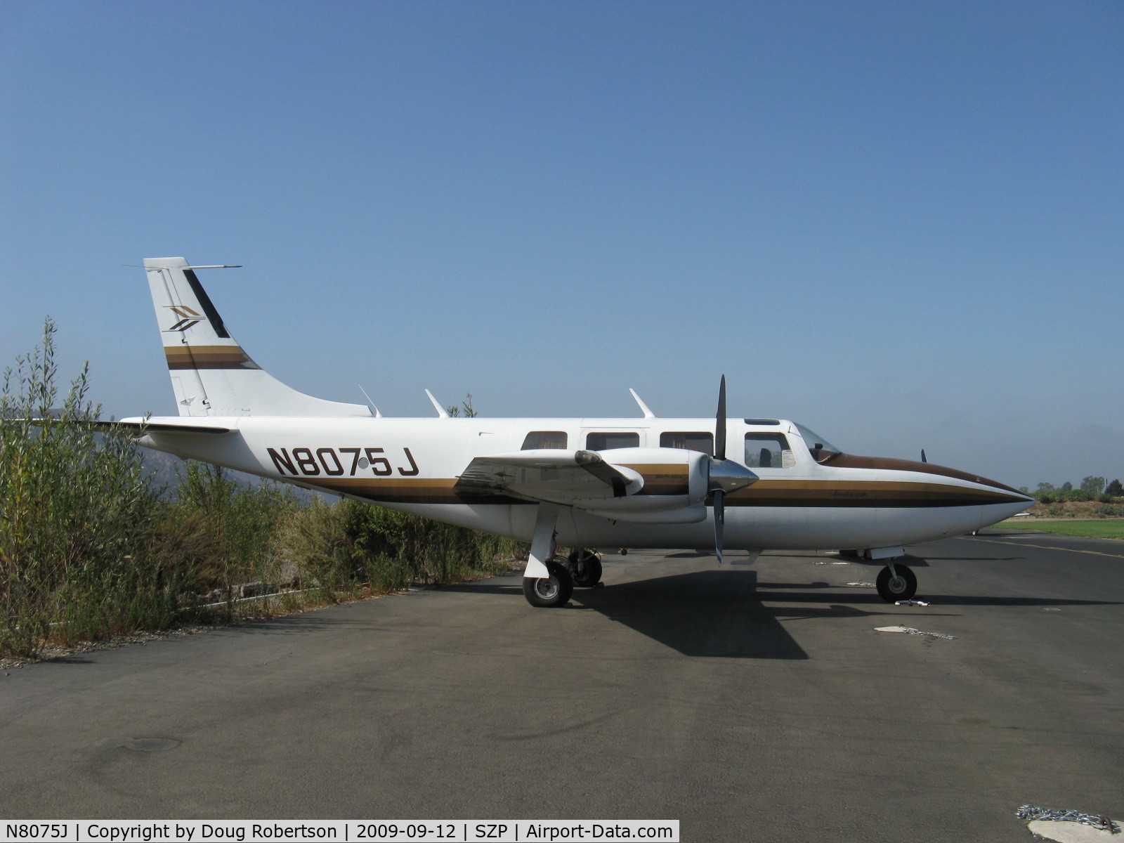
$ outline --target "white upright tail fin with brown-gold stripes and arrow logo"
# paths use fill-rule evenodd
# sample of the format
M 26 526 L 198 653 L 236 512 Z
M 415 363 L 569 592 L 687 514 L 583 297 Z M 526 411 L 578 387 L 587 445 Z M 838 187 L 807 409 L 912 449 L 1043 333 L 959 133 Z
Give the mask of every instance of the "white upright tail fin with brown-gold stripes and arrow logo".
M 182 257 L 146 257 L 144 266 L 181 416 L 371 415 L 361 404 L 306 396 L 262 370 Z

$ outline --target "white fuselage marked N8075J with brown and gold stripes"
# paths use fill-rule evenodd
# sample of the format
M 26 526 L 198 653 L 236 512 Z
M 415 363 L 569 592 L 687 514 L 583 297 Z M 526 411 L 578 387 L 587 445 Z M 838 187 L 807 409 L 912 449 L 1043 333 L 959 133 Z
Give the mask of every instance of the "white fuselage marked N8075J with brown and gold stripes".
M 660 447 L 662 437 L 674 434 L 713 435 L 715 429 L 713 418 L 208 416 L 199 420 L 233 432 L 148 432 L 142 444 L 525 541 L 534 531 L 536 501 L 454 488 L 474 457 L 519 451 L 532 432 L 564 433 L 564 446 L 571 448 L 596 444 L 589 434 L 607 434 L 615 442 L 623 435 L 643 448 Z M 745 445 L 743 464 L 750 464 L 760 480 L 726 497 L 725 542 L 731 549 L 908 545 L 971 532 L 1014 515 L 1030 501 L 994 481 L 928 463 L 845 454 L 817 462 L 789 422 L 762 425 L 731 418 L 727 432 L 728 456 L 738 462 L 746 434 L 780 434 L 788 443 L 783 461 L 771 465 L 753 461 L 760 442 L 750 439 Z M 656 466 L 634 468 L 643 474 Z M 664 487 L 647 478 L 653 490 L 663 488 L 652 493 L 673 493 L 668 475 L 660 477 Z M 568 507 L 556 529 L 559 544 L 581 547 L 710 547 L 715 535 L 709 509 L 697 523 L 637 524 Z

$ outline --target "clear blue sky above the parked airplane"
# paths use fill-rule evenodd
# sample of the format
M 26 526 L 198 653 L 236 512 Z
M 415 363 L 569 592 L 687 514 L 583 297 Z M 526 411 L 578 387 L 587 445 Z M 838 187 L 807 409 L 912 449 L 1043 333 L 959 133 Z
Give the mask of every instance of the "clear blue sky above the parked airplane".
M 173 414 L 183 255 L 387 415 L 800 420 L 1124 477 L 1120 2 L 8 2 L 0 361 Z

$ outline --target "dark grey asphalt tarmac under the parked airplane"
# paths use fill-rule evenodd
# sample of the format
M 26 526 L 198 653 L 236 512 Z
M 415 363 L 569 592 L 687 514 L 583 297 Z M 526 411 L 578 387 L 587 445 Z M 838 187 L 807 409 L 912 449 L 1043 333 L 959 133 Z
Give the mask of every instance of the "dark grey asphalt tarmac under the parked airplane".
M 0 817 L 669 818 L 688 843 L 1124 817 L 1124 542 L 913 550 L 927 608 L 824 552 L 634 552 L 563 609 L 513 574 L 12 669 Z

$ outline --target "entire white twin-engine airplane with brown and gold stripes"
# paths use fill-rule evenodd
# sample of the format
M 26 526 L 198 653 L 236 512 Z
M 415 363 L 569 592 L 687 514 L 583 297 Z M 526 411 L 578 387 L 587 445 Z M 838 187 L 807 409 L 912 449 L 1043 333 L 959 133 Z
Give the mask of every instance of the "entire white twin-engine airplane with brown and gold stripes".
M 878 592 L 913 597 L 905 545 L 955 536 L 1031 498 L 925 462 L 852 456 L 801 425 L 656 418 L 383 418 L 298 392 L 242 350 L 182 257 L 144 262 L 179 417 L 124 419 L 140 444 L 531 542 L 523 591 L 562 606 L 598 547 L 861 549 Z M 577 547 L 554 559 L 555 543 Z

